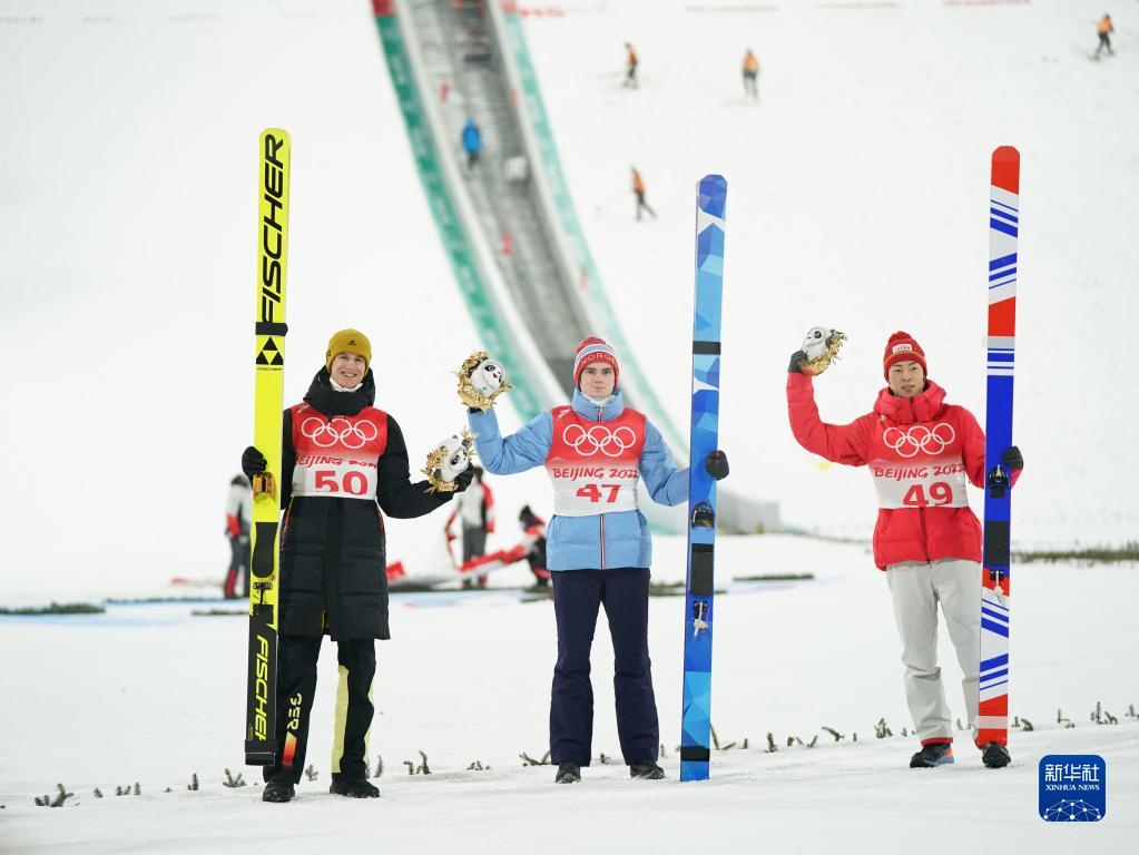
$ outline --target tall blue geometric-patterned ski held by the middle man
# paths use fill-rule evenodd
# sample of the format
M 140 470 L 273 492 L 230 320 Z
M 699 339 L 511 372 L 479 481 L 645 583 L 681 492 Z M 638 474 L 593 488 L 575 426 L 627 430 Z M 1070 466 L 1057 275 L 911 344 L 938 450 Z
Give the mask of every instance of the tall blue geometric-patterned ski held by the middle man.
M 727 196 L 728 182 L 721 175 L 705 175 L 697 186 L 681 781 L 706 780 L 711 757 L 716 504 L 715 479 L 704 468 L 704 459 L 719 447 L 720 310 Z

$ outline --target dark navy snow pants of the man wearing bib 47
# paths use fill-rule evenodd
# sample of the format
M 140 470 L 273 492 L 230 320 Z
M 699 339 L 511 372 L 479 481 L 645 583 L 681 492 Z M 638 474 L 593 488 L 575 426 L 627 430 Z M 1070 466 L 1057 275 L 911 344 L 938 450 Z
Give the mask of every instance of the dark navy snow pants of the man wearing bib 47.
M 592 756 L 593 688 L 589 650 L 605 605 L 613 639 L 617 733 L 626 764 L 655 761 L 661 739 L 648 658 L 647 567 L 559 570 L 554 577 L 558 664 L 550 698 L 550 758 L 588 766 Z

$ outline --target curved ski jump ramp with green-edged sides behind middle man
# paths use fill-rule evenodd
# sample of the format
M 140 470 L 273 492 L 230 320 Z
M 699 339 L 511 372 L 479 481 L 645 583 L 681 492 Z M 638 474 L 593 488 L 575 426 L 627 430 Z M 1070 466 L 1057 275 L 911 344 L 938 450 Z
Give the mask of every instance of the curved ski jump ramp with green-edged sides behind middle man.
M 678 460 L 687 437 L 639 370 L 609 305 L 562 172 L 513 0 L 372 0 L 379 38 L 440 238 L 483 344 L 517 387 L 523 420 L 572 392 L 577 343 L 599 335 L 621 354 L 621 387 Z M 467 118 L 482 131 L 467 168 Z M 721 494 L 728 531 L 776 531 L 773 502 Z M 682 511 L 642 502 L 655 527 L 685 531 Z

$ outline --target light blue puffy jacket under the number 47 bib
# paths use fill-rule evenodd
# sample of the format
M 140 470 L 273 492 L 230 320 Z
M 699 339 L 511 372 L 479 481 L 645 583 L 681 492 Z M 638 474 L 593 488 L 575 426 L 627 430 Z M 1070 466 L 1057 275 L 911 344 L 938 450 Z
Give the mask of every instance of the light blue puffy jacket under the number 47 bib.
M 573 393 L 573 409 L 587 419 L 609 421 L 625 409 L 621 389 L 604 409 L 595 406 L 579 390 Z M 502 436 L 494 411 L 469 414 L 470 430 L 486 471 L 514 475 L 544 466 L 554 442 L 554 418 L 544 412 L 518 433 Z M 640 457 L 640 477 L 661 504 L 680 504 L 688 499 L 688 469 L 677 469 L 672 452 L 661 431 L 645 420 L 645 447 Z M 605 539 L 603 560 L 601 539 Z M 616 511 L 592 517 L 555 515 L 546 529 L 546 558 L 550 570 L 605 569 L 607 567 L 648 567 L 653 542 L 648 523 L 639 511 Z

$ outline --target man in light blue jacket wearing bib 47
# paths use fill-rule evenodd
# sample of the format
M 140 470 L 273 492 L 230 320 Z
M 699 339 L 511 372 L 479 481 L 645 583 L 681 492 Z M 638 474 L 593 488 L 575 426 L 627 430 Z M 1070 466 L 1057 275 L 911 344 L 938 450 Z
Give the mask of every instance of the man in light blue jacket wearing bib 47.
M 501 370 L 484 361 L 491 384 Z M 678 469 L 661 433 L 631 408 L 617 387 L 616 354 L 600 338 L 587 338 L 574 359 L 573 403 L 542 413 L 503 437 L 498 419 L 469 411 L 482 465 L 495 475 L 546 467 L 554 483 L 554 517 L 547 527 L 547 559 L 554 579 L 558 661 L 550 702 L 550 755 L 557 782 L 581 780 L 592 756 L 593 692 L 589 651 L 599 607 L 605 605 L 615 653 L 614 688 L 621 750 L 633 778 L 661 779 L 659 730 L 648 656 L 648 583 L 652 540 L 637 508 L 644 479 L 661 504 L 688 498 L 688 469 Z M 485 378 L 477 376 L 482 383 Z M 713 452 L 705 467 L 728 475 L 728 459 Z

